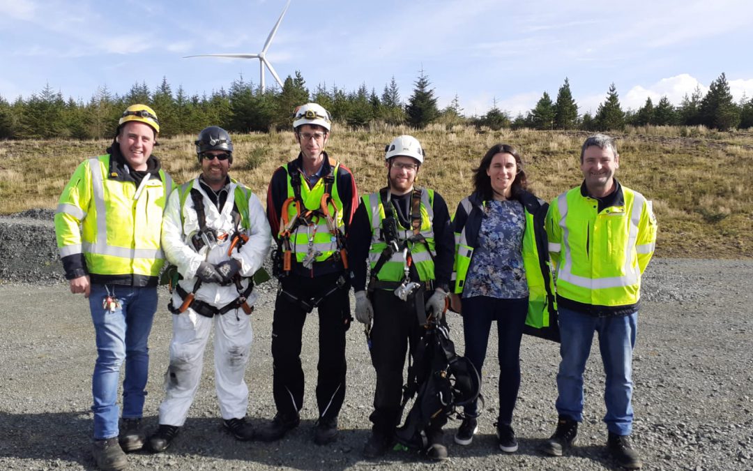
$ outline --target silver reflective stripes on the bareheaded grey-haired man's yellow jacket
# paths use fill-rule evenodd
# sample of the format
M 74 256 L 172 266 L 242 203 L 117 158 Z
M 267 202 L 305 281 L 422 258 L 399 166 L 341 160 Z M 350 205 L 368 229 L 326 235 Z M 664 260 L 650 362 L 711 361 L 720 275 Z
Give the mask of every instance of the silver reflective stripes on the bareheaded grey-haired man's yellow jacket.
M 580 191 L 580 190 L 578 190 Z M 636 239 L 638 237 L 638 225 L 641 219 L 641 211 L 643 208 L 643 204 L 645 202 L 644 198 L 640 194 L 634 194 L 633 199 L 633 210 L 630 213 L 630 228 L 629 228 L 629 234 L 628 238 L 625 244 L 625 263 L 623 265 L 623 273 L 625 273 L 622 277 L 608 277 L 608 278 L 587 278 L 587 277 L 579 277 L 578 275 L 572 274 L 572 254 L 571 254 L 571 248 L 570 248 L 570 229 L 566 225 L 566 217 L 568 214 L 568 202 L 567 202 L 567 195 L 569 192 L 560 194 L 559 197 L 557 197 L 557 208 L 559 209 L 559 227 L 562 228 L 562 242 L 565 246 L 565 251 L 562 256 L 562 265 L 559 268 L 559 272 L 557 274 L 558 280 L 566 281 L 568 283 L 572 283 L 575 286 L 586 288 L 586 289 L 607 289 L 607 288 L 617 288 L 617 287 L 624 287 L 624 286 L 633 286 L 640 282 L 640 271 L 639 266 L 636 263 L 633 265 L 631 261 L 633 261 L 632 250 L 633 247 L 636 246 Z

